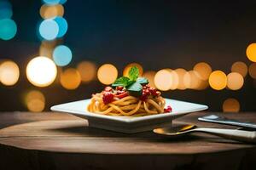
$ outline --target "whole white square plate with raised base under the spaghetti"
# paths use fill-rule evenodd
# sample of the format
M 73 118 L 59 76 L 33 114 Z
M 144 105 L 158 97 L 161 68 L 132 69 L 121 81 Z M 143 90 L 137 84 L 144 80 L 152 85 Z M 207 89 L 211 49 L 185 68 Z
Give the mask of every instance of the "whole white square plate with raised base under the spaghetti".
M 90 127 L 103 128 L 120 133 L 138 133 L 156 127 L 171 126 L 172 120 L 190 112 L 207 110 L 207 105 L 199 105 L 174 99 L 166 99 L 166 105 L 172 106 L 171 113 L 150 116 L 105 116 L 87 111 L 90 99 L 54 105 L 51 111 L 61 111 L 85 118 Z

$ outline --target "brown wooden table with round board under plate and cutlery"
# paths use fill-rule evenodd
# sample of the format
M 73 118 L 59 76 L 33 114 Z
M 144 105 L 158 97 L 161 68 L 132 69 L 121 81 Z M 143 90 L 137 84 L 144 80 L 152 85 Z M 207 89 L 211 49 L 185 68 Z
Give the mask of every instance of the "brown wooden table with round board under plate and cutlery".
M 207 114 L 192 113 L 174 123 L 229 127 L 197 121 Z M 256 122 L 256 113 L 225 116 Z M 0 169 L 256 169 L 253 144 L 205 134 L 166 139 L 86 126 L 86 120 L 62 113 L 0 113 Z

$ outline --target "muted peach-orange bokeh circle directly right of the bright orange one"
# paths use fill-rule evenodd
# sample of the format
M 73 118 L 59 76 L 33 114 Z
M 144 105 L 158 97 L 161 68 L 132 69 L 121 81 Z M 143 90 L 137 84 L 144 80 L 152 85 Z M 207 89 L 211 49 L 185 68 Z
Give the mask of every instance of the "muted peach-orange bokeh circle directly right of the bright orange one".
M 243 85 L 243 77 L 238 72 L 231 72 L 227 76 L 227 88 L 230 88 L 231 90 L 238 90 Z

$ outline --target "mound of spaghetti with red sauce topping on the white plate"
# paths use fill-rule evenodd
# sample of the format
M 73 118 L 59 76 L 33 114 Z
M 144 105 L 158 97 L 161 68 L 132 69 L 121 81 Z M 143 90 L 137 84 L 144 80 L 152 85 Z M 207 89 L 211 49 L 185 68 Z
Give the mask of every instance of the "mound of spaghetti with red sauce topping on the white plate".
M 127 87 L 120 82 L 118 86 L 113 83 L 113 88 L 106 87 L 101 93 L 93 94 L 88 111 L 109 116 L 147 116 L 172 111 L 171 106 L 165 108 L 166 100 L 160 91 L 150 88 L 145 81 L 135 83 Z

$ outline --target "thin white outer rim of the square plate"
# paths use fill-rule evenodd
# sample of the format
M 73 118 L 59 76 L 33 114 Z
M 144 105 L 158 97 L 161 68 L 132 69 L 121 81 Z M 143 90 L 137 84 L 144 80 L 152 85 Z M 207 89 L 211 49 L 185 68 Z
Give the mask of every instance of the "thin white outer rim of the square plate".
M 143 122 L 143 121 L 149 121 L 149 120 L 156 120 L 156 119 L 160 119 L 160 118 L 166 118 L 166 117 L 174 117 L 174 116 L 183 116 L 186 115 L 188 113 L 191 112 L 195 112 L 195 111 L 205 111 L 208 109 L 207 105 L 201 105 L 201 104 L 196 104 L 196 103 L 191 103 L 191 102 L 187 102 L 187 101 L 183 101 L 183 100 L 177 100 L 177 99 L 167 99 L 166 100 L 169 101 L 177 101 L 177 102 L 183 102 L 183 103 L 188 103 L 188 104 L 192 104 L 192 105 L 200 105 L 201 108 L 199 109 L 194 109 L 194 110 L 188 110 L 188 111 L 181 111 L 179 113 L 174 113 L 170 112 L 170 113 L 162 113 L 162 114 L 156 114 L 156 115 L 149 115 L 149 116 L 140 116 L 140 117 L 134 117 L 132 119 L 124 119 L 124 118 L 120 118 L 121 116 L 106 116 L 106 115 L 100 115 L 100 114 L 96 114 L 90 111 L 85 111 L 85 106 L 84 106 L 84 111 L 73 111 L 73 110 L 68 110 L 68 109 L 61 109 L 59 108 L 61 105 L 68 105 L 68 104 L 72 104 L 72 103 L 77 103 L 77 102 L 88 102 L 90 99 L 82 99 L 82 100 L 77 100 L 77 101 L 72 101 L 72 102 L 67 102 L 67 103 L 63 103 L 60 105 L 53 105 L 50 107 L 51 111 L 58 111 L 58 112 L 65 112 L 65 113 L 69 113 L 69 114 L 73 114 L 73 115 L 78 115 L 78 116 L 84 116 L 85 118 L 88 119 L 104 119 L 104 120 L 108 120 L 108 121 L 115 121 L 115 122 L 125 122 L 125 123 L 135 123 L 135 122 Z

